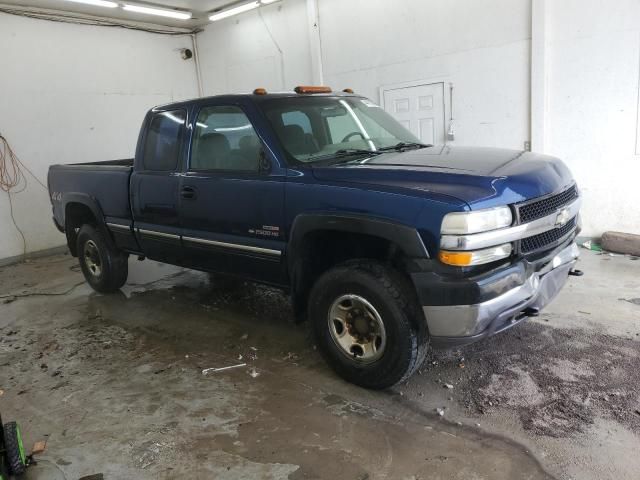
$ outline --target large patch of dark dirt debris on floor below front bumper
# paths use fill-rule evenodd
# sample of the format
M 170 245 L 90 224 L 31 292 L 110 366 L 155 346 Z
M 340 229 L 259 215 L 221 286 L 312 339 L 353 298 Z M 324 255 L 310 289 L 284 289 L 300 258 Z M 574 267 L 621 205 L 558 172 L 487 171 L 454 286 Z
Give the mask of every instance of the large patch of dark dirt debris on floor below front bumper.
M 589 311 L 590 317 L 596 314 Z M 515 334 L 521 341 L 513 341 Z M 528 322 L 465 347 L 465 357 L 474 361 L 464 370 L 453 352 L 436 353 L 437 366 L 429 362 L 423 368 L 427 376 L 437 372 L 449 381 L 455 379 L 468 412 L 493 418 L 509 412 L 538 437 L 583 434 L 598 418 L 640 432 L 639 414 L 634 413 L 640 357 L 631 353 L 637 351 L 636 338 L 592 336 L 579 329 Z M 545 362 L 539 360 L 541 351 Z M 589 394 L 591 399 L 585 401 Z

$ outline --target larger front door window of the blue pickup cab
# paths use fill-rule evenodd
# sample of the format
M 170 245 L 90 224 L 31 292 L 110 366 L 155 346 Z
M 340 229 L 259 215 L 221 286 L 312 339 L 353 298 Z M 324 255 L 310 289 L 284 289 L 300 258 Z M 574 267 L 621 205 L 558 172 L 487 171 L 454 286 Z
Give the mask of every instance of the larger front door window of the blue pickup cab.
M 260 150 L 260 139 L 240 108 L 206 107 L 198 114 L 190 168 L 257 171 Z

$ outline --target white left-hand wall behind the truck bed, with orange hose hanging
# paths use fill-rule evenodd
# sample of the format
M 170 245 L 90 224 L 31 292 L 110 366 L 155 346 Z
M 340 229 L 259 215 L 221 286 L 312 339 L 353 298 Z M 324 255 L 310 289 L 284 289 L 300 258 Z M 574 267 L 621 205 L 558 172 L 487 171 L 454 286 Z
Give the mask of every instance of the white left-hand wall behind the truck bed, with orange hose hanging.
M 147 109 L 197 96 L 193 61 L 180 58 L 181 47 L 191 47 L 190 37 L 0 14 L 0 132 L 45 184 L 52 163 L 132 157 Z M 27 250 L 64 244 L 47 193 L 28 181 L 13 196 Z M 0 259 L 20 254 L 0 192 Z

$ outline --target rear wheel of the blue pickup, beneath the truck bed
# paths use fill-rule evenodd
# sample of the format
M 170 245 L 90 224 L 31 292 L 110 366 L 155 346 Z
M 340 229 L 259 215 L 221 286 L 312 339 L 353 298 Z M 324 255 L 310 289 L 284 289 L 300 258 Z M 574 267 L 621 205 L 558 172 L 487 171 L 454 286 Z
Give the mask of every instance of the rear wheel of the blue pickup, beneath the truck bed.
M 80 268 L 91 288 L 100 293 L 118 291 L 129 275 L 128 255 L 92 225 L 80 228 L 77 242 Z

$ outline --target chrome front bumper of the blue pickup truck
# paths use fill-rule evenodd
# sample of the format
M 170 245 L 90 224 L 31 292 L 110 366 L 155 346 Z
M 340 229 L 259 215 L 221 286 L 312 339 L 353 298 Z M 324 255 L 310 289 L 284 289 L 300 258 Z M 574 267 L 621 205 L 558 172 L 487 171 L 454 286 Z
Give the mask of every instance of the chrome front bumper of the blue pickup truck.
M 486 302 L 424 306 L 432 341 L 436 345 L 472 343 L 524 319 L 527 309 L 542 309 L 562 289 L 579 255 L 577 245 L 572 243 L 522 285 Z

